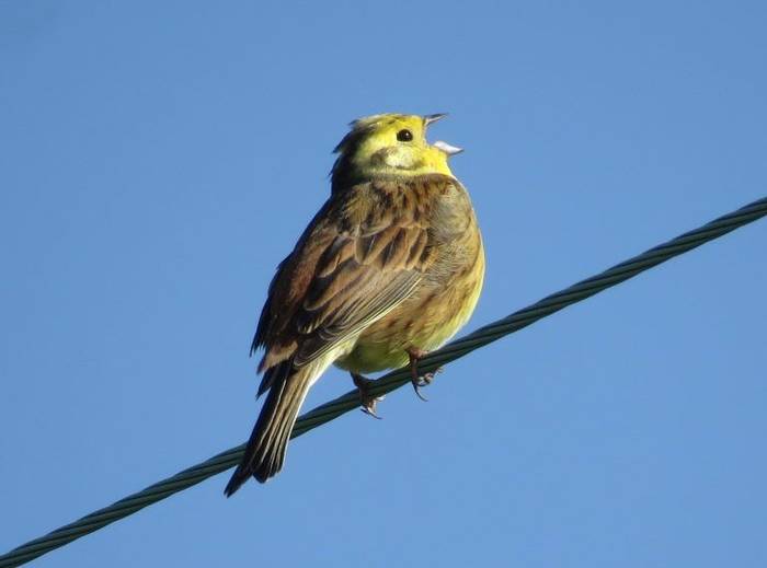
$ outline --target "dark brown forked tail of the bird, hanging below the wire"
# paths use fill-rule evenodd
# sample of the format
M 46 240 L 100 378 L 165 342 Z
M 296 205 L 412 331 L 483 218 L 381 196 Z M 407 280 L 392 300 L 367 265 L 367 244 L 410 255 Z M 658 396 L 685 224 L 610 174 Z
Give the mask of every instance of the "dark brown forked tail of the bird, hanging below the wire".
M 309 364 L 295 369 L 288 359 L 266 371 L 264 380 L 272 386 L 245 445 L 242 462 L 224 490 L 227 497 L 231 497 L 251 475 L 264 483 L 283 467 L 293 426 L 317 372 L 312 368 Z

